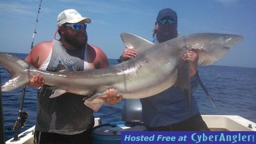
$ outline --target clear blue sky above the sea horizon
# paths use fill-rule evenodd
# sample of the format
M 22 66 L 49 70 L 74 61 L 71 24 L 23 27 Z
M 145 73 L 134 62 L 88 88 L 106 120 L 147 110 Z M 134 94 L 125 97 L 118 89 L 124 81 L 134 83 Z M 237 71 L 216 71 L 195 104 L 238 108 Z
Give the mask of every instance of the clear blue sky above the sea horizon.
M 39 0 L 0 1 L 1 52 L 30 51 Z M 244 36 L 214 65 L 256 67 L 255 0 L 43 0 L 35 44 L 52 40 L 61 11 L 74 8 L 90 17 L 88 42 L 99 46 L 108 58 L 124 50 L 120 33 L 134 33 L 152 39 L 157 13 L 172 8 L 178 14 L 179 35 L 191 33 L 233 33 Z

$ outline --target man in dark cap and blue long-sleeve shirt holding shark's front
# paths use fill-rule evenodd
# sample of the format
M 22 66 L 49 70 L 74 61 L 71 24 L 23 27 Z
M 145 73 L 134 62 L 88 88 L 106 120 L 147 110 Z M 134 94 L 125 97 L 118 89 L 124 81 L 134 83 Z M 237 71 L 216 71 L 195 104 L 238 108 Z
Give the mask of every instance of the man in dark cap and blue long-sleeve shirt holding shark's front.
M 165 42 L 177 36 L 177 13 L 170 8 L 160 10 L 153 33 L 154 42 Z M 129 60 L 137 55 L 136 49 L 127 48 L 118 61 Z M 194 51 L 188 51 L 182 59 L 189 62 L 191 104 L 189 106 L 184 92 L 178 86 L 172 86 L 152 97 L 140 99 L 141 119 L 149 131 L 209 131 L 192 95 L 199 83 L 198 55 Z

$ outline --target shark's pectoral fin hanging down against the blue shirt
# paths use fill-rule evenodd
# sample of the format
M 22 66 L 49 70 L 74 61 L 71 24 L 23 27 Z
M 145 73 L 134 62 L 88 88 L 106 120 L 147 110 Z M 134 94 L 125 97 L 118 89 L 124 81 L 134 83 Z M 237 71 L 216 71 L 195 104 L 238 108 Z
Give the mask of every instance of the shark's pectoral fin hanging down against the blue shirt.
M 184 91 L 185 97 L 188 100 L 190 107 L 191 104 L 191 95 L 190 95 L 190 79 L 189 79 L 189 62 L 180 60 L 178 66 L 178 77 L 177 77 L 177 86 Z

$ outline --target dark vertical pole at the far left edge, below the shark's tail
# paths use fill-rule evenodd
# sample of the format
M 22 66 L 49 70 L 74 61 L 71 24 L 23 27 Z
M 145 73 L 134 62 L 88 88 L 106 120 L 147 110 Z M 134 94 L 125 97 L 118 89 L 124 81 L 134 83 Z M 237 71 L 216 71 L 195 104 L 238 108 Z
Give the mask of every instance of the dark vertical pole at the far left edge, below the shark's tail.
M 0 72 L 0 144 L 5 144 L 4 137 L 4 115 L 3 115 L 3 102 L 2 102 L 2 86 L 1 86 L 1 72 Z

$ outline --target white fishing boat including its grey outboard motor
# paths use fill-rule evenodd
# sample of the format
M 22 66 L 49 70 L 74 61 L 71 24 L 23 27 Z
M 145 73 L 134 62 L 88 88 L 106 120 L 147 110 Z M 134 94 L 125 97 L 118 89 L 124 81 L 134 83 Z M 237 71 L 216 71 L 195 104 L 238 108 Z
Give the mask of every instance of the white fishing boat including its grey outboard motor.
M 211 131 L 256 131 L 256 123 L 252 122 L 246 118 L 243 118 L 239 115 L 202 115 L 205 123 Z M 101 118 L 95 118 L 94 128 L 105 126 L 106 124 L 101 124 Z M 143 120 L 141 118 L 141 104 L 138 99 L 127 99 L 124 102 L 123 111 L 122 111 L 122 121 L 123 122 L 134 122 L 134 124 L 141 123 Z M 120 122 L 111 122 L 115 123 L 117 127 L 121 127 Z M 129 125 L 123 125 L 129 129 Z M 6 144 L 14 143 L 33 143 L 33 132 L 35 125 L 28 130 L 19 134 L 17 141 L 13 141 L 13 138 L 6 141 Z M 111 129 L 111 127 L 109 127 Z M 105 129 L 106 130 L 106 129 Z M 111 130 L 110 130 L 111 131 Z M 119 129 L 118 131 L 123 131 Z M 125 130 L 124 130 L 125 131 Z M 147 130 L 143 130 L 147 131 Z M 94 132 L 94 131 L 93 131 Z M 104 132 L 103 132 L 104 133 Z M 119 132 L 120 133 L 120 132 Z

